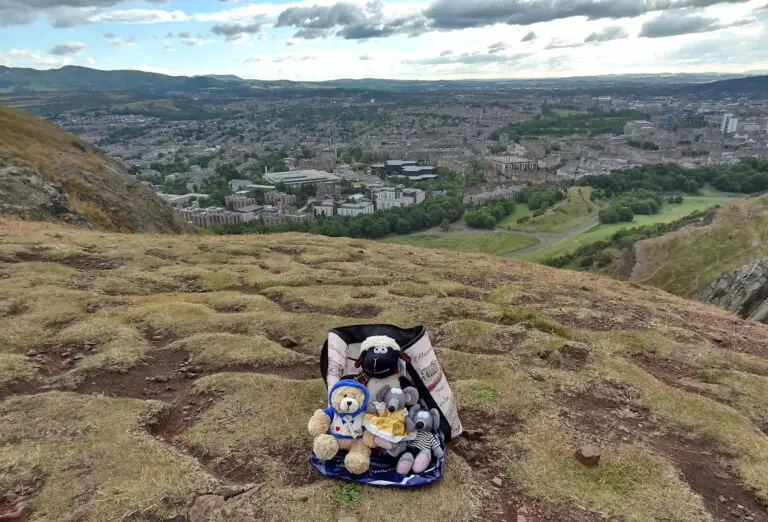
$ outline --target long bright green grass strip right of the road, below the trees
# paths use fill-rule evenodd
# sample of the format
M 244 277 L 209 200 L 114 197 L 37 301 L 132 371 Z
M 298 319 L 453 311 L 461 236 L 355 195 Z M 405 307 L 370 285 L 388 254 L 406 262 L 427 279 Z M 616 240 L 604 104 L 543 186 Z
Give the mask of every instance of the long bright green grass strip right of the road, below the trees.
M 594 243 L 611 236 L 618 230 L 633 226 L 652 225 L 654 223 L 669 223 L 696 210 L 705 210 L 729 200 L 729 197 L 686 197 L 680 205 L 665 203 L 659 212 L 653 216 L 635 216 L 632 223 L 614 223 L 611 225 L 597 225 L 581 234 L 558 241 L 546 248 L 521 256 L 526 261 L 542 261 L 550 256 L 566 254 L 576 250 L 580 246 Z

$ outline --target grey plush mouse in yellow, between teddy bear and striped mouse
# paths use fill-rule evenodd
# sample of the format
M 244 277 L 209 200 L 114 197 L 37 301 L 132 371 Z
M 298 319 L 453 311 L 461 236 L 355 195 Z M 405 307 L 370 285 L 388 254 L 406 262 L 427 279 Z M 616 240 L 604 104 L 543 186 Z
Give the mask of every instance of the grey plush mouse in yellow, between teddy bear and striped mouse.
M 413 386 L 406 388 L 383 387 L 379 389 L 375 400 L 368 402 L 363 426 L 365 433 L 363 441 L 369 448 L 381 448 L 388 451 L 393 457 L 399 456 L 405 445 L 398 445 L 401 441 L 415 432 L 409 433 L 406 427 L 408 406 L 413 406 L 419 401 L 419 391 Z M 397 447 L 399 453 L 392 450 Z

